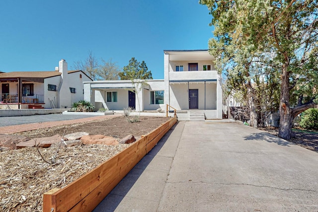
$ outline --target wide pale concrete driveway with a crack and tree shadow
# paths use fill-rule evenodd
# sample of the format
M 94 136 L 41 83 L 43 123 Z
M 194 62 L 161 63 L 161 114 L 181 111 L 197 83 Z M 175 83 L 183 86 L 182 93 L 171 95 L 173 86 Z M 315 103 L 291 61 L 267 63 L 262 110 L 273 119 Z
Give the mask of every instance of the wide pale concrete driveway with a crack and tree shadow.
M 318 211 L 318 153 L 237 123 L 179 122 L 94 212 Z

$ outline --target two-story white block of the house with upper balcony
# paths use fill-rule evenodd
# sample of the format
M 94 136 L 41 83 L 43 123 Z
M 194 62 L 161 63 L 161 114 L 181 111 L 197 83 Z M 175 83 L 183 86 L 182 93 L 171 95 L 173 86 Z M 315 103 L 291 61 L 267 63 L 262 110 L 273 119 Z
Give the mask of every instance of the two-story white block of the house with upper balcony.
M 222 87 L 208 50 L 164 50 L 164 103 L 222 119 Z

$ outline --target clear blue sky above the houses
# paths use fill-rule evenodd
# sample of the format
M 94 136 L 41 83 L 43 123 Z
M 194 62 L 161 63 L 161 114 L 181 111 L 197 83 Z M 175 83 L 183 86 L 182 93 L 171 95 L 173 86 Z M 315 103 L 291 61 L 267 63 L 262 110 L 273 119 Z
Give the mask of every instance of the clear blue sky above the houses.
M 0 0 L 0 71 L 71 70 L 92 51 L 163 79 L 163 50 L 207 49 L 211 18 L 198 0 Z

